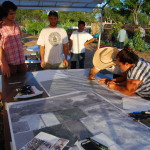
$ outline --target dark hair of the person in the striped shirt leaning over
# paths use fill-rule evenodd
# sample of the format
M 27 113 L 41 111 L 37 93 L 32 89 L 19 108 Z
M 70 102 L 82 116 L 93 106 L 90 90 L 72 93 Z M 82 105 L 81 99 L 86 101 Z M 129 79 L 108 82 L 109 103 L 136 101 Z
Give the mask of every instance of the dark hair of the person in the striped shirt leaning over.
M 137 64 L 139 57 L 133 52 L 133 49 L 126 46 L 124 47 L 116 56 L 120 62 L 125 64 L 126 62 L 129 64 Z

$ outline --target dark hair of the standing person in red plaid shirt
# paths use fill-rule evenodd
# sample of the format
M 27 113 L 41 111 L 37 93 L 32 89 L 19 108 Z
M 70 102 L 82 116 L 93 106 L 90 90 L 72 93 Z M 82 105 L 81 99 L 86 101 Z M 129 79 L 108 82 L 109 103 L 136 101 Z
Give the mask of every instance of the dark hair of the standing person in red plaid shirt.
M 17 6 L 13 2 L 11 2 L 11 1 L 5 1 L 5 2 L 3 2 L 2 3 L 2 7 L 5 10 L 7 16 L 8 16 L 9 10 L 14 10 L 14 11 L 17 10 Z

